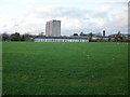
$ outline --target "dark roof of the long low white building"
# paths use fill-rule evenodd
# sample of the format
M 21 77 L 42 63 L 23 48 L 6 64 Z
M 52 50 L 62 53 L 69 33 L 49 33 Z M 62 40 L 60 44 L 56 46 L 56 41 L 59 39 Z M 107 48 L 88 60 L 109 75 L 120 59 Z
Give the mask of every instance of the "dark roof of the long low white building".
M 35 37 L 35 39 L 88 39 L 82 37 Z

